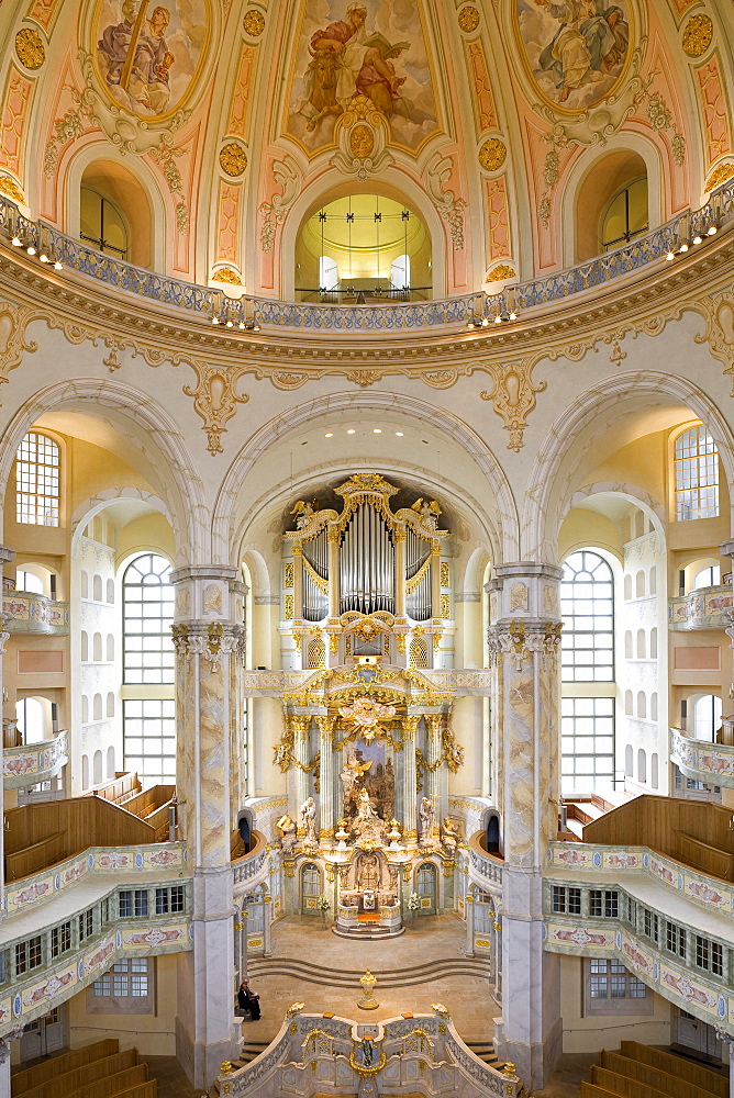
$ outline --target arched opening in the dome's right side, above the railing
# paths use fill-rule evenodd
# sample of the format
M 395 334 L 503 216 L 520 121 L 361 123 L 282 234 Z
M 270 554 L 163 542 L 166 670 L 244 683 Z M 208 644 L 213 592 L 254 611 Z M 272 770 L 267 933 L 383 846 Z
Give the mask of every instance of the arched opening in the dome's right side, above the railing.
M 622 247 L 647 231 L 647 166 L 619 149 L 591 168 L 576 194 L 576 260 Z

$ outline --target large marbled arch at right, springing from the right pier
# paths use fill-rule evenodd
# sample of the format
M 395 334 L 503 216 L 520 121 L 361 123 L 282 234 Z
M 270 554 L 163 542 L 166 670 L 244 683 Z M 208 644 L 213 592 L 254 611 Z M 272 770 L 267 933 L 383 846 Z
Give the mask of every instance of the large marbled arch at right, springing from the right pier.
M 608 378 L 560 413 L 538 448 L 522 505 L 523 559 L 558 562 L 558 529 L 578 491 L 571 480 L 574 470 L 583 468 L 599 425 L 610 432 L 620 419 L 667 403 L 685 405 L 707 425 L 724 475 L 732 482 L 734 436 L 719 408 L 698 385 L 686 378 L 652 371 Z

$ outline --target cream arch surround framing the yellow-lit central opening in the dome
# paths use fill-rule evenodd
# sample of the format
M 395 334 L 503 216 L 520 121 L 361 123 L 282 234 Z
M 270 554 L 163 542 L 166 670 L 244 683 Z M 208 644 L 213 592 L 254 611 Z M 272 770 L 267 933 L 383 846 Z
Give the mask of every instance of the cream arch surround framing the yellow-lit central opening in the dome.
M 422 219 L 431 237 L 433 295 L 434 298 L 445 298 L 448 292 L 446 282 L 447 229 L 424 188 L 396 165 L 385 168 L 379 177 L 370 177 L 369 186 L 375 194 L 394 199 L 398 202 L 407 202 Z M 324 172 L 312 182 L 307 183 L 294 200 L 286 216 L 280 236 L 280 296 L 285 300 L 294 300 L 293 256 L 296 255 L 298 234 L 304 221 L 319 206 L 325 205 L 334 199 L 345 198 L 355 190 L 355 187 L 354 177 L 348 179 L 342 177 L 342 181 L 335 184 L 333 175 Z

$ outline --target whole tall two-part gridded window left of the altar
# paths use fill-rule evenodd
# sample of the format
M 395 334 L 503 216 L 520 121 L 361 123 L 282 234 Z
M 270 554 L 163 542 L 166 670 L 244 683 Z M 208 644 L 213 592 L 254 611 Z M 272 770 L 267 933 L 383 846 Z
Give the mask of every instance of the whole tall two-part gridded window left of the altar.
M 124 766 L 137 772 L 144 787 L 170 784 L 176 781 L 176 703 L 165 687 L 174 682 L 174 589 L 165 557 L 147 552 L 127 565 L 122 604 Z M 140 692 L 144 696 L 131 696 L 135 686 L 146 687 Z M 158 697 L 151 690 L 155 686 Z

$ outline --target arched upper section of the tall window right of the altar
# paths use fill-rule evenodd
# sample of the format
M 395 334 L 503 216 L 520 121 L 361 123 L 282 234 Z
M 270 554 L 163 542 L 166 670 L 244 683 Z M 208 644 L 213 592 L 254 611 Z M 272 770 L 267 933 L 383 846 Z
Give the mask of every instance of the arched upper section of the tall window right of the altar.
M 603 557 L 579 549 L 566 558 L 560 603 L 564 682 L 612 682 L 614 582 Z

